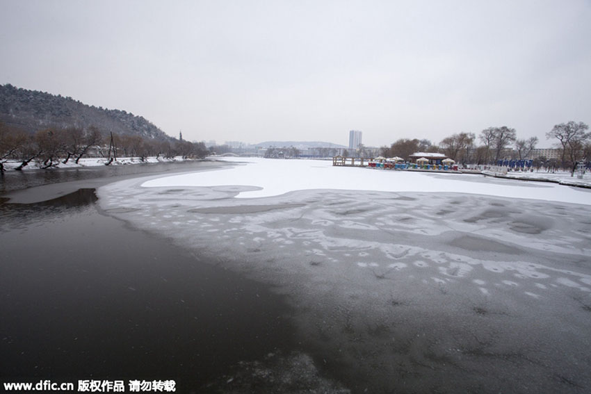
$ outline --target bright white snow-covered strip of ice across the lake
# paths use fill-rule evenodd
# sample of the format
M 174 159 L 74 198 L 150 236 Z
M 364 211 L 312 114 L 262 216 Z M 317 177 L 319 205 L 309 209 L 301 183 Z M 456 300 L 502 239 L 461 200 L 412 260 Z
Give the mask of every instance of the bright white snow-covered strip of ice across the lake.
M 542 199 L 591 204 L 589 192 L 565 192 L 556 184 L 515 183 L 502 180 L 474 181 L 479 175 L 383 171 L 362 167 L 333 167 L 332 161 L 224 158 L 239 165 L 217 172 L 181 174 L 153 179 L 143 187 L 257 186 L 237 197 L 270 197 L 292 190 L 376 190 L 384 192 L 460 192 L 497 197 Z M 245 165 L 246 164 L 246 165 Z M 503 185 L 503 188 L 499 188 Z

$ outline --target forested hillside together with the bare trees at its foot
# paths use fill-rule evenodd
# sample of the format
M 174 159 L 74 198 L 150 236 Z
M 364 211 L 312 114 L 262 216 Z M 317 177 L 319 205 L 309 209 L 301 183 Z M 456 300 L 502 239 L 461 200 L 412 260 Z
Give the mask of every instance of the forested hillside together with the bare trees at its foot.
M 203 142 L 177 140 L 143 117 L 87 106 L 71 97 L 0 85 L 0 172 L 34 163 L 54 168 L 83 157 L 202 158 Z

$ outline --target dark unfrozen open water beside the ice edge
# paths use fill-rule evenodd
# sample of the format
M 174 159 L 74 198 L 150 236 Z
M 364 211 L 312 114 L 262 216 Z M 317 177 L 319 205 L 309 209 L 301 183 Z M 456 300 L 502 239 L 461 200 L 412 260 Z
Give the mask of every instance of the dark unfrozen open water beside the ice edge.
M 282 297 L 95 201 L 83 188 L 0 202 L 0 381 L 175 379 L 197 393 L 238 361 L 293 349 Z

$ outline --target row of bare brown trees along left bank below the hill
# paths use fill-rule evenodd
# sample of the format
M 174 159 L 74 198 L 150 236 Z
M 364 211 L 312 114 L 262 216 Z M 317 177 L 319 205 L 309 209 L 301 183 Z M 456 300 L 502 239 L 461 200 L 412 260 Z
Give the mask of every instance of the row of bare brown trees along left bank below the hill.
M 105 134 L 95 126 L 87 129 L 49 128 L 29 133 L 0 122 L 0 171 L 6 170 L 7 161 L 19 162 L 15 170 L 22 170 L 32 161 L 47 169 L 70 160 L 79 163 L 84 156 L 106 157 L 111 153 L 107 151 L 111 142 L 111 148 L 118 151 L 119 156 L 140 157 L 142 160 L 149 156 L 200 158 L 208 153 L 202 142 L 154 140 L 127 135 L 114 135 L 111 141 Z

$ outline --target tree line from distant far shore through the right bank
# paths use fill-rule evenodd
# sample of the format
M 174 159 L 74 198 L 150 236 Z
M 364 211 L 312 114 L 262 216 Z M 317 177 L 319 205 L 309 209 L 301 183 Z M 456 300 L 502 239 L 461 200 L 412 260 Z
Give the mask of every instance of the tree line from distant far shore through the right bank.
M 591 133 L 587 124 L 567 122 L 556 124 L 546 133 L 548 140 L 555 142 L 555 149 L 537 149 L 537 137 L 517 138 L 515 129 L 507 126 L 489 127 L 475 133 L 455 133 L 444 138 L 439 145 L 419 138 L 400 138 L 390 146 L 366 147 L 357 149 L 345 147 L 294 147 L 279 145 L 271 147 L 212 147 L 218 154 L 232 153 L 241 156 L 261 156 L 266 158 L 330 158 L 343 156 L 350 158 L 375 158 L 398 156 L 411 161 L 417 152 L 439 153 L 452 158 L 459 165 L 499 165 L 506 161 L 531 161 L 533 167 L 572 170 L 576 163 L 590 166 Z

